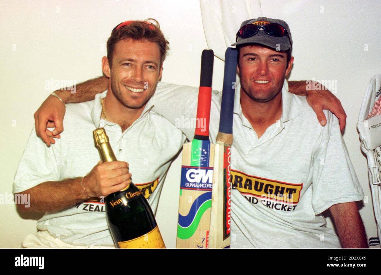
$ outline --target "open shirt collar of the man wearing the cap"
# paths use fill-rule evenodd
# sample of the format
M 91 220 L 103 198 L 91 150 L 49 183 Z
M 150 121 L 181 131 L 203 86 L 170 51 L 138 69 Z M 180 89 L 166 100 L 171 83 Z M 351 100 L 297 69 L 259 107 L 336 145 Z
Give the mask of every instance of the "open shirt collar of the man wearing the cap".
M 244 117 L 242 113 L 242 107 L 240 103 L 241 99 L 241 84 L 237 83 L 237 88 L 235 89 L 235 97 L 234 97 L 234 113 L 239 115 L 240 119 L 245 122 L 247 119 Z M 296 95 L 288 92 L 288 82 L 285 79 L 282 87 L 282 122 L 286 122 L 297 117 L 300 114 L 300 108 L 298 104 L 298 100 L 296 99 Z M 244 123 L 245 124 L 245 123 Z M 250 123 L 249 123 L 250 125 Z M 251 126 L 249 126 L 251 127 Z

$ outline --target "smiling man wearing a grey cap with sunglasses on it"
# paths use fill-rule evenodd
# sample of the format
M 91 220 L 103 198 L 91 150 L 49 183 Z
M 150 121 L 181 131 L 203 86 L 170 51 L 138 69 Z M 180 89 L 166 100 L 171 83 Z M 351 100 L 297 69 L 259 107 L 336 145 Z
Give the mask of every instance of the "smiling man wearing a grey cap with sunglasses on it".
M 355 203 L 363 192 L 338 119 L 325 112 L 327 124 L 321 126 L 306 98 L 288 92 L 285 76 L 294 60 L 288 25 L 266 17 L 245 21 L 233 45 L 239 51 L 240 84 L 231 153 L 231 247 L 367 247 Z M 77 89 L 76 96 L 79 93 Z M 197 89 L 159 82 L 154 99 L 152 110 L 191 140 L 194 128 L 182 127 L 178 120 L 195 118 Z M 212 141 L 218 132 L 220 101 L 221 93 L 215 91 Z M 43 118 L 50 112 L 46 105 Z M 325 227 L 321 213 L 327 209 L 339 237 Z

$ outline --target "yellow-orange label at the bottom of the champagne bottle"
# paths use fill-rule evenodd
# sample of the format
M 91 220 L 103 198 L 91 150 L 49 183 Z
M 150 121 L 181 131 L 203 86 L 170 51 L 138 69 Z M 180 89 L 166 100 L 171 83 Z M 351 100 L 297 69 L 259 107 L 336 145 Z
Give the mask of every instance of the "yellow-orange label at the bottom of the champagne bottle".
M 118 242 L 120 248 L 165 248 L 158 226 L 133 240 Z

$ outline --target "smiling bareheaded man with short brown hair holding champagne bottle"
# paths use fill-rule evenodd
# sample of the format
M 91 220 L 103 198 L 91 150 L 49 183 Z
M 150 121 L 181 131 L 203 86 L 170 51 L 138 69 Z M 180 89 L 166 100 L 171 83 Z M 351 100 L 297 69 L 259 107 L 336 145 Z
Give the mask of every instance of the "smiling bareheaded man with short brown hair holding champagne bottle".
M 94 100 L 67 105 L 66 131 L 53 146 L 46 147 L 32 131 L 13 193 L 30 194 L 30 207 L 18 205 L 19 210 L 45 215 L 23 248 L 114 248 L 104 197 L 127 186 L 129 171 L 156 212 L 171 159 L 185 141 L 181 131 L 152 112 L 167 45 L 157 25 L 119 24 L 107 41 L 109 58 L 102 58 L 108 90 Z M 106 130 L 119 161 L 100 163 L 93 140 L 99 127 Z M 155 150 L 150 150 L 152 144 Z

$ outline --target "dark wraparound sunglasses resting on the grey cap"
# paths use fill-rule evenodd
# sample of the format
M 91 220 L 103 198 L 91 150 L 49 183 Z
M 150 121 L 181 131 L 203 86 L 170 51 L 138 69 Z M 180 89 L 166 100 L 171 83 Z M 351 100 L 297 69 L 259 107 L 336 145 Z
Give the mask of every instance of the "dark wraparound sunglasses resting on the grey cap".
M 264 30 L 264 32 L 270 36 L 274 36 L 274 37 L 287 36 L 288 40 L 290 40 L 290 36 L 288 35 L 287 30 L 282 25 L 277 23 L 271 23 L 267 25 L 254 25 L 254 24 L 244 25 L 237 32 L 237 38 L 235 42 L 237 42 L 238 37 L 249 38 L 251 36 L 256 35 L 261 29 Z M 290 44 L 291 44 L 291 40 L 290 40 Z

